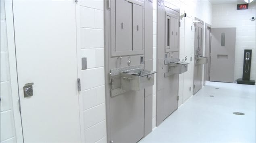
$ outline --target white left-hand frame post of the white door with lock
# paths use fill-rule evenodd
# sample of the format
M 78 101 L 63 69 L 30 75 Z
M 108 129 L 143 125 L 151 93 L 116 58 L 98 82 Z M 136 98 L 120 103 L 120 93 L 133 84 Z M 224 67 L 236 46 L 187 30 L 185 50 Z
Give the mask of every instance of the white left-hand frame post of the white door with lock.
M 15 49 L 15 30 L 13 21 L 12 0 L 4 0 L 5 16 L 6 16 L 6 30 L 8 42 L 8 56 L 10 68 L 10 85 L 12 92 L 12 109 L 15 122 L 15 134 L 17 143 L 23 143 L 23 129 L 21 121 L 21 112 L 19 107 L 19 87 L 17 77 L 17 62 Z

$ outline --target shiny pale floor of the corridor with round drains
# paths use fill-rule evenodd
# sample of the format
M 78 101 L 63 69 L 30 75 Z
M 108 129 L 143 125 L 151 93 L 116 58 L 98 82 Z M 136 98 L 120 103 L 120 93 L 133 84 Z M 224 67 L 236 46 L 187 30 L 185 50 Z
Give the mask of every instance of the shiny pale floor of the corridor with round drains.
M 255 89 L 207 82 L 139 143 L 255 143 Z

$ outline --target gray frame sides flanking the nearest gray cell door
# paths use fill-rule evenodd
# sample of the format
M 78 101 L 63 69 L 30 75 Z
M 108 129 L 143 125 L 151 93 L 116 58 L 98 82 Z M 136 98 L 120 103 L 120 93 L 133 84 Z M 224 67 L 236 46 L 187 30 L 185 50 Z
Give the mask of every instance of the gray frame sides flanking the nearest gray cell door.
M 127 1 L 127 0 L 126 0 Z M 133 3 L 137 3 L 139 2 L 139 0 L 128 0 L 128 1 L 131 1 Z M 105 103 L 106 103 L 106 134 L 107 134 L 107 142 L 109 143 L 110 140 L 111 140 L 111 136 L 110 136 L 110 83 L 109 83 L 109 72 L 110 72 L 110 68 L 109 68 L 109 62 L 110 62 L 110 58 L 111 58 L 111 55 L 109 54 L 109 51 L 111 50 L 111 29 L 110 29 L 110 26 L 111 26 L 111 19 L 109 19 L 110 15 L 111 15 L 111 8 L 113 5 L 109 5 L 109 2 L 112 2 L 112 0 L 104 0 L 104 79 L 105 79 Z M 148 4 L 146 4 L 146 2 L 148 2 Z M 145 0 L 144 1 L 144 8 L 143 8 L 143 14 L 144 14 L 144 20 L 146 21 L 146 17 L 148 17 L 150 14 L 150 18 L 151 18 L 151 23 L 148 24 L 150 25 L 150 31 L 151 31 L 151 41 L 152 41 L 152 31 L 153 31 L 153 26 L 152 26 L 152 12 L 153 12 L 153 8 L 152 8 L 152 11 L 151 13 L 147 13 L 147 16 L 146 16 L 146 12 L 145 10 L 149 7 L 149 5 L 151 4 L 152 6 L 152 1 L 148 1 L 148 0 Z M 146 5 L 148 5 L 147 8 Z M 146 24 L 146 22 L 144 22 L 144 25 Z M 145 26 L 145 29 L 146 29 L 146 26 Z M 148 30 L 149 32 L 149 30 Z M 143 34 L 146 33 L 146 30 L 143 31 Z M 148 39 L 148 38 L 147 38 Z M 144 46 L 146 45 L 146 34 L 144 35 L 144 40 L 143 40 L 143 44 Z M 149 54 L 146 54 L 145 52 L 145 49 L 147 49 L 148 51 L 151 50 L 149 53 L 151 53 L 150 55 Z M 145 66 L 145 62 L 149 62 L 151 61 L 151 64 L 152 63 L 152 52 L 153 52 L 153 42 L 150 44 L 150 46 L 145 46 L 145 48 L 143 49 L 143 53 L 144 53 L 144 66 Z M 150 65 L 149 65 L 150 66 Z M 153 88 L 153 86 L 150 87 L 151 89 Z M 146 111 L 145 110 L 145 106 L 146 106 L 146 97 L 145 97 L 145 92 L 146 90 L 144 89 L 144 137 L 146 135 L 148 135 L 149 132 L 152 131 L 152 108 L 150 111 Z M 151 91 L 148 91 L 147 92 L 148 94 L 151 94 L 149 95 L 148 97 L 152 97 L 152 90 Z M 147 103 L 149 103 L 148 105 L 152 105 L 152 102 L 150 103 L 150 101 L 147 101 Z M 148 115 L 146 115 L 145 113 L 151 113 L 150 115 L 150 119 L 146 118 L 148 117 Z M 146 121 L 147 120 L 147 121 Z M 150 123 L 151 122 L 151 123 Z M 150 125 L 148 124 L 150 123 Z M 149 127 L 150 126 L 150 129 L 149 128 L 146 128 L 146 127 Z

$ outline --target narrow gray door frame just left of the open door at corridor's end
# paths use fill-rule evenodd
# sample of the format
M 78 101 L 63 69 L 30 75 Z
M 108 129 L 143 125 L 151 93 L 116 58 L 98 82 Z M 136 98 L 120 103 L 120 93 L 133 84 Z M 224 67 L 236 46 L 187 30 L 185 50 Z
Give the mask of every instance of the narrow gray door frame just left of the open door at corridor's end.
M 204 85 L 205 81 L 210 81 L 210 56 L 211 56 L 211 33 L 212 26 L 208 23 L 205 23 L 205 48 L 204 48 L 204 56 L 208 57 L 208 64 L 204 64 Z M 206 40 L 209 39 L 209 40 Z

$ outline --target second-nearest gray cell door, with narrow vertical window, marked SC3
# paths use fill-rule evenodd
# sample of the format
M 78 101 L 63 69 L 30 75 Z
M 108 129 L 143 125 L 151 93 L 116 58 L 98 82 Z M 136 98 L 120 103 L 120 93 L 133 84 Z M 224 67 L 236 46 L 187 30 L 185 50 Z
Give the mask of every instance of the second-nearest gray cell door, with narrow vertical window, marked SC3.
M 165 75 L 167 61 L 179 60 L 179 10 L 157 8 L 157 99 L 156 125 L 178 108 L 179 74 Z

